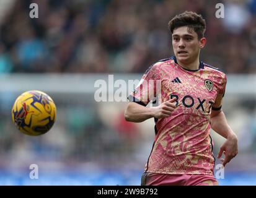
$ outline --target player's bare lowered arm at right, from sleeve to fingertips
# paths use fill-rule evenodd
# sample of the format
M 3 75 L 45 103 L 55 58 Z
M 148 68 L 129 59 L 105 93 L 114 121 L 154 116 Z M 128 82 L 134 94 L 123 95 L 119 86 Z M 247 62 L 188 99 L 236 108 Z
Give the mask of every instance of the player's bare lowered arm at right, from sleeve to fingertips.
M 236 157 L 238 153 L 237 136 L 227 123 L 226 116 L 221 110 L 211 111 L 211 128 L 219 135 L 226 138 L 226 141 L 221 146 L 217 157 L 220 158 L 224 153 L 225 157 L 221 158 L 221 161 L 223 161 L 223 166 L 225 166 L 226 163 Z

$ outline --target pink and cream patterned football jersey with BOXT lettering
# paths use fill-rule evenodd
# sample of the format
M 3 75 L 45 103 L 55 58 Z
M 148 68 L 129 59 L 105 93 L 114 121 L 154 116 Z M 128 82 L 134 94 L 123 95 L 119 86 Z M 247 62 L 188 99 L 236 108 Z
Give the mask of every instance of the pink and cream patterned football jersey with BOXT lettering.
M 190 71 L 172 56 L 149 67 L 128 99 L 146 106 L 154 97 L 159 103 L 176 97 L 177 108 L 169 117 L 155 119 L 146 172 L 213 175 L 210 115 L 221 109 L 225 87 L 226 74 L 203 62 Z

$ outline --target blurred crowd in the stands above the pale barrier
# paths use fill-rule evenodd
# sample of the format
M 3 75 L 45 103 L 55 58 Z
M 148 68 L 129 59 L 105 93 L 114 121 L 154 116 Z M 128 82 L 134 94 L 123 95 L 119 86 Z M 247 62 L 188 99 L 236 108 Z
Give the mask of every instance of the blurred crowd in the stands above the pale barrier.
M 30 4 L 38 19 L 30 19 Z M 195 11 L 206 19 L 201 61 L 227 73 L 256 73 L 256 1 L 23 0 L 0 25 L 0 73 L 144 72 L 173 55 L 167 24 Z

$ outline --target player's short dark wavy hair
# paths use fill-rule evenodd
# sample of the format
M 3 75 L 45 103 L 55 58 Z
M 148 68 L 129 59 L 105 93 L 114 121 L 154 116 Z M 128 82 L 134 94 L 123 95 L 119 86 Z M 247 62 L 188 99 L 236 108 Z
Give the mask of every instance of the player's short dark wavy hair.
M 171 33 L 174 33 L 175 28 L 187 26 L 188 32 L 193 29 L 197 33 L 198 40 L 203 38 L 206 29 L 205 19 L 203 19 L 200 14 L 188 11 L 175 15 L 175 17 L 169 21 L 168 26 Z

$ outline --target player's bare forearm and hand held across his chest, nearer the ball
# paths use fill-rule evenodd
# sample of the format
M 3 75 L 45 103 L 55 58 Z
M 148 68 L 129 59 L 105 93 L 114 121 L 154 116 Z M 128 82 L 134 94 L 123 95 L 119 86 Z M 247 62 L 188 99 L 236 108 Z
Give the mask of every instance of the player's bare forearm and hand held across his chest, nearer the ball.
M 172 114 L 176 108 L 175 101 L 177 98 L 172 98 L 165 101 L 159 106 L 146 107 L 136 102 L 130 102 L 125 110 L 126 121 L 141 123 L 149 118 L 166 118 Z

